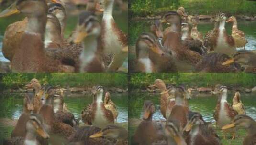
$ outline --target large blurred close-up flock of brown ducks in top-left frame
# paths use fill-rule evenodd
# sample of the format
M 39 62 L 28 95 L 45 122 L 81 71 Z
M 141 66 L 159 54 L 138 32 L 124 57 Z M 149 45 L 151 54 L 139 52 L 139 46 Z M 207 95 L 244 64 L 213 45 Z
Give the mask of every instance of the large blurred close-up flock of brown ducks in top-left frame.
M 75 31 L 64 38 L 67 12 L 61 0 L 17 0 L 0 18 L 22 13 L 10 24 L 2 52 L 12 72 L 116 72 L 127 58 L 126 35 L 112 16 L 114 0 L 88 0 Z M 96 14 L 103 11 L 100 23 Z

